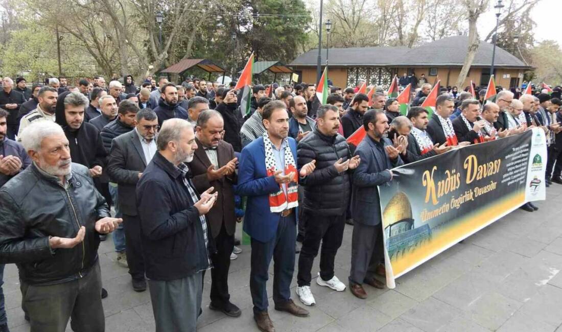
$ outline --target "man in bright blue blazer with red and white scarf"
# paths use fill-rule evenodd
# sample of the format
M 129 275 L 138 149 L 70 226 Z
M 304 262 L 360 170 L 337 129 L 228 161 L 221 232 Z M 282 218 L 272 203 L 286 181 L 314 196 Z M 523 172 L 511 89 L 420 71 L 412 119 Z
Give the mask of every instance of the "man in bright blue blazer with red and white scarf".
M 250 292 L 254 319 L 261 331 L 275 331 L 268 315 L 269 263 L 275 262 L 275 310 L 305 317 L 309 312 L 291 299 L 296 242 L 297 177 L 314 170 L 315 161 L 297 175 L 297 143 L 288 138 L 285 104 L 271 101 L 262 111 L 266 133 L 242 149 L 235 193 L 247 196 L 244 231 L 251 237 Z

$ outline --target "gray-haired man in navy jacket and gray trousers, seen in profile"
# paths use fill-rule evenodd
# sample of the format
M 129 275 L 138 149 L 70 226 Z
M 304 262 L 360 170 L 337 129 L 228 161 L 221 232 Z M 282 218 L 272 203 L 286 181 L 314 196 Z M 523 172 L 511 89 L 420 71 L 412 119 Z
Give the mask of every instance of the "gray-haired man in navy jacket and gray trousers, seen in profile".
M 156 331 L 195 331 L 201 311 L 202 272 L 211 266 L 212 236 L 206 213 L 216 201 L 210 187 L 200 195 L 186 163 L 197 149 L 193 125 L 164 122 L 158 151 L 137 183 L 140 237 Z M 155 199 L 157 197 L 158 199 Z

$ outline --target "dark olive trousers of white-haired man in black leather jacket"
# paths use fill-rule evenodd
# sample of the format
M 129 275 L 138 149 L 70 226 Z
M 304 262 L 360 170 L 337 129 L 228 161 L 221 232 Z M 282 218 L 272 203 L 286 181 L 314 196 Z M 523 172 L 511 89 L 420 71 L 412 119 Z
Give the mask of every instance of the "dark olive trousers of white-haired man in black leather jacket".
M 24 304 L 31 332 L 105 331 L 99 262 L 84 278 L 46 286 L 25 285 Z

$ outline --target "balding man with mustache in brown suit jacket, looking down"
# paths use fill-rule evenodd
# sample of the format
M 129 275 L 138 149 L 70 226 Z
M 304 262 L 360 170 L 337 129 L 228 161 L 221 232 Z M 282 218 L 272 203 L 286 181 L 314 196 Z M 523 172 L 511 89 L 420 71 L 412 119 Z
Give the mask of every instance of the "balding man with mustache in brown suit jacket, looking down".
M 207 221 L 215 242 L 216 252 L 211 254 L 211 310 L 222 311 L 231 317 L 241 315 L 240 309 L 230 303 L 228 270 L 230 253 L 234 248 L 237 218 L 234 214 L 233 184 L 237 178 L 237 158 L 232 145 L 221 139 L 224 120 L 215 110 L 202 111 L 197 119 L 196 143 L 199 147 L 188 164 L 197 192 L 213 187 L 218 193 L 216 203 L 207 213 Z

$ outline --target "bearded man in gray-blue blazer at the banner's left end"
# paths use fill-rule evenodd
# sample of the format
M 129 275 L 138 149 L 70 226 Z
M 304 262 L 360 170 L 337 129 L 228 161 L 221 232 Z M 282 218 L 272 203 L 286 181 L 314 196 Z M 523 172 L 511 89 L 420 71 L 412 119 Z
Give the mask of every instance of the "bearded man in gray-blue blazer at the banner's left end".
M 405 146 L 394 147 L 387 138 L 388 119 L 382 110 L 370 110 L 363 116 L 367 134 L 355 150 L 361 163 L 353 172 L 351 212 L 355 226 L 351 240 L 350 291 L 367 298 L 363 283 L 375 288 L 384 284 L 374 278 L 383 258 L 383 234 L 378 186 L 392 181 L 391 169 L 403 164 L 400 153 Z

